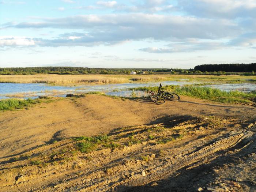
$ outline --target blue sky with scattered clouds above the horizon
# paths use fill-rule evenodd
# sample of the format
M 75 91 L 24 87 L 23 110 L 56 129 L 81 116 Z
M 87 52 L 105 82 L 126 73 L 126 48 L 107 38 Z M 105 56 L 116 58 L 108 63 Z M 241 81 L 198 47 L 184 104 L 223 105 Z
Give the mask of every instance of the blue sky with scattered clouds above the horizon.
M 0 0 L 0 67 L 256 62 L 256 0 Z

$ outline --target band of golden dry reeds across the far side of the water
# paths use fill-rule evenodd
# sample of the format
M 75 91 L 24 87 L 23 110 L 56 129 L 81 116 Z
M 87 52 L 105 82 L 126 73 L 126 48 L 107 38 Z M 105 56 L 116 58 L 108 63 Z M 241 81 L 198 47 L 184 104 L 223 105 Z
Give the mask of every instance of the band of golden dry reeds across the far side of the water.
M 165 80 L 240 83 L 255 76 L 239 75 L 0 75 L 1 83 L 111 84 Z M 249 81 L 249 80 L 248 80 Z

